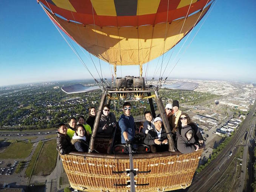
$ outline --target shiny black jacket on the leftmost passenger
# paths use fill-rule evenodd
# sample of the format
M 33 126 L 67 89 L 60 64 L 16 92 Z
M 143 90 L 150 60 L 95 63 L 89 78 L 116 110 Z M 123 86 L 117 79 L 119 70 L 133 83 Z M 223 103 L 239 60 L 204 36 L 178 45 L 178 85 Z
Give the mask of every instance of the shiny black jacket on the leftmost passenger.
M 68 135 L 63 135 L 60 132 L 57 132 L 57 134 L 57 149 L 60 152 L 60 154 L 65 155 L 73 151 L 74 146 L 71 144 Z

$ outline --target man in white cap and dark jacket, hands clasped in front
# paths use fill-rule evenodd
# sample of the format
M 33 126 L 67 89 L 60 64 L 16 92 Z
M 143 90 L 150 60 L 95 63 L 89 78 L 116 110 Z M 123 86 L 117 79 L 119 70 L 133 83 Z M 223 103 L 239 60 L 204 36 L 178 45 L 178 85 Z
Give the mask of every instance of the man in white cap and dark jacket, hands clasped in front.
M 145 144 L 150 145 L 152 152 L 168 151 L 167 135 L 162 124 L 162 118 L 156 117 L 154 119 L 155 128 L 148 131 L 144 140 Z

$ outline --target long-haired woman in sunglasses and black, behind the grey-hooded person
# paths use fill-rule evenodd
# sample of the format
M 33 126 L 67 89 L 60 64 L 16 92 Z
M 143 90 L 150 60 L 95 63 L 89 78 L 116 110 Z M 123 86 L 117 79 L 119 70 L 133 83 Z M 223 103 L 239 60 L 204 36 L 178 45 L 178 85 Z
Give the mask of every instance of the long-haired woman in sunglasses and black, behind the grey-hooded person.
M 197 125 L 195 123 L 193 123 L 193 121 L 191 121 L 190 117 L 188 116 L 188 114 L 182 112 L 178 121 L 178 131 L 176 133 L 176 141 L 178 136 L 181 134 L 181 130 L 183 129 L 183 127 L 186 126 L 191 126 L 191 128 L 194 131 L 194 138 L 196 140 L 196 142 L 198 142 L 200 144 L 200 146 L 202 146 L 204 144 L 204 138 L 202 136 L 202 134 L 200 133 L 199 128 L 197 127 Z

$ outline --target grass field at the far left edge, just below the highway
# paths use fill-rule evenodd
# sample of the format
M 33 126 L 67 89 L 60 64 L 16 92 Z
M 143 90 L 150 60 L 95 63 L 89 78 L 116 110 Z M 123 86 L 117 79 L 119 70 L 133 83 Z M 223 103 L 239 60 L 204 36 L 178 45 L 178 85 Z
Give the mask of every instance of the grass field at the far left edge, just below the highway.
M 32 150 L 32 144 L 24 141 L 11 141 L 11 145 L 4 152 L 0 153 L 2 159 L 23 159 L 28 157 Z

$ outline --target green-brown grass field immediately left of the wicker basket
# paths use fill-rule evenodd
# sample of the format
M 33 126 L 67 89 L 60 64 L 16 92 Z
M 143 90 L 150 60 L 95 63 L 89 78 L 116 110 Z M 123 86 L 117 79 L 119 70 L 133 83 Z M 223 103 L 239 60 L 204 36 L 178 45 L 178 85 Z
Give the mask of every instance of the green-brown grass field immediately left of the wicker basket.
M 46 141 L 35 164 L 33 175 L 49 175 L 56 166 L 56 139 Z

